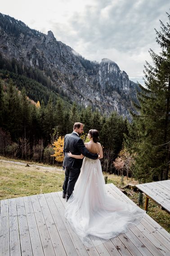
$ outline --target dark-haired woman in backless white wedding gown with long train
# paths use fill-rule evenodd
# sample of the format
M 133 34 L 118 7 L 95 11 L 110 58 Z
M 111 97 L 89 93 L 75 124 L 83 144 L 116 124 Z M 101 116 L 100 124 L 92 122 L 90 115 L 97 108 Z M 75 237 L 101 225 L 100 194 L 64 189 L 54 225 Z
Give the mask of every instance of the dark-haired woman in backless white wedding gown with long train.
M 85 147 L 103 158 L 98 136 L 97 130 L 89 130 L 90 141 L 85 143 Z M 84 158 L 82 154 L 68 155 Z M 108 240 L 127 231 L 130 225 L 139 223 L 145 215 L 145 211 L 138 206 L 121 202 L 107 194 L 99 158 L 84 158 L 80 176 L 65 210 L 67 221 L 87 247 L 93 246 L 89 235 Z

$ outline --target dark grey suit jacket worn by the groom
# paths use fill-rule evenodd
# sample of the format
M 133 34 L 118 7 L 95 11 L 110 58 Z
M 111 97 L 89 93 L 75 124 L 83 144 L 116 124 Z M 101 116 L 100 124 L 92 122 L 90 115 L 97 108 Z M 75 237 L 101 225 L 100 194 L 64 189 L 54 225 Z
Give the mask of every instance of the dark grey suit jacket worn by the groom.
M 83 159 L 76 159 L 69 157 L 67 153 L 69 151 L 74 155 L 81 155 L 91 158 L 91 159 L 97 159 L 98 154 L 92 154 L 90 153 L 83 143 L 83 140 L 74 132 L 71 134 L 66 134 L 64 137 L 64 162 L 63 165 L 67 168 L 81 168 Z

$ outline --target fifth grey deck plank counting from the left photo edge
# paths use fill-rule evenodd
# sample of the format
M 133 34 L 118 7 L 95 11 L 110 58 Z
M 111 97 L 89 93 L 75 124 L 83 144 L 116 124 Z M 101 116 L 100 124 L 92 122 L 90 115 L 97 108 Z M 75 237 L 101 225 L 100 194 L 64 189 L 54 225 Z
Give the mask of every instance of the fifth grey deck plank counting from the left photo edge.
M 31 202 L 34 209 L 34 214 L 36 217 L 36 223 L 40 233 L 44 254 L 45 256 L 55 256 L 54 248 L 49 236 L 49 232 L 45 223 L 44 216 L 42 214 L 37 195 L 31 195 Z

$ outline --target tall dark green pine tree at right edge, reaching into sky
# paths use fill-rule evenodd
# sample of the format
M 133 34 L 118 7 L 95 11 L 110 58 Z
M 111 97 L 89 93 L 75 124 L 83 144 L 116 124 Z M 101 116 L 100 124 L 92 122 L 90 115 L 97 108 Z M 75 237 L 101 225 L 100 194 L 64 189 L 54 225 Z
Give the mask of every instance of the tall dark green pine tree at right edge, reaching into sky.
M 140 86 L 134 103 L 139 114 L 132 113 L 126 143 L 135 156 L 136 178 L 145 181 L 168 179 L 170 163 L 170 15 L 156 41 L 161 47 L 160 55 L 150 49 L 154 66 L 144 66 L 145 87 Z M 131 139 L 130 139 L 131 138 Z

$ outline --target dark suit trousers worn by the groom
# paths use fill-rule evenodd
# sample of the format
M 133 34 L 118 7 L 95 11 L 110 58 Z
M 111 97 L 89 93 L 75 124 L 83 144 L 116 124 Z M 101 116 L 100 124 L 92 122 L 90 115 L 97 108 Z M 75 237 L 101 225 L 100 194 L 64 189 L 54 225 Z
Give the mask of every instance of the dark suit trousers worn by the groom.
M 63 184 L 63 192 L 67 194 L 67 199 L 72 195 L 74 186 L 80 174 L 80 168 L 65 168 L 65 179 Z

